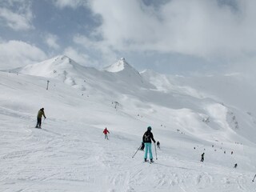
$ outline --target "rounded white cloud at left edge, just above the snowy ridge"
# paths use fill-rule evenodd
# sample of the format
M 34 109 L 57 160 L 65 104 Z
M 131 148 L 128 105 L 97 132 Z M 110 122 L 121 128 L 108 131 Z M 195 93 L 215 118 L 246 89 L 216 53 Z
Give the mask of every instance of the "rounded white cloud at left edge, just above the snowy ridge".
M 40 62 L 46 54 L 38 47 L 21 41 L 0 42 L 0 69 L 13 69 L 19 66 Z

